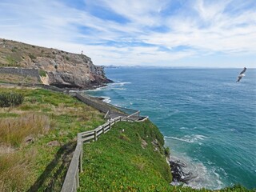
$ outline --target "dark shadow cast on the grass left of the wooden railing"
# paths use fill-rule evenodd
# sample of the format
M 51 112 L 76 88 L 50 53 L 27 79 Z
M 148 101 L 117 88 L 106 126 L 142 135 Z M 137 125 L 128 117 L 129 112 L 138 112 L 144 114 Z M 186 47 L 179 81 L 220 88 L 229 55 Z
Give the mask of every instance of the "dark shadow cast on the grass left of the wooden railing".
M 66 171 L 70 164 L 76 142 L 69 142 L 62 146 L 54 159 L 46 166 L 46 170 L 34 182 L 27 192 L 34 191 L 60 191 L 64 182 Z M 57 168 L 58 167 L 58 168 Z

